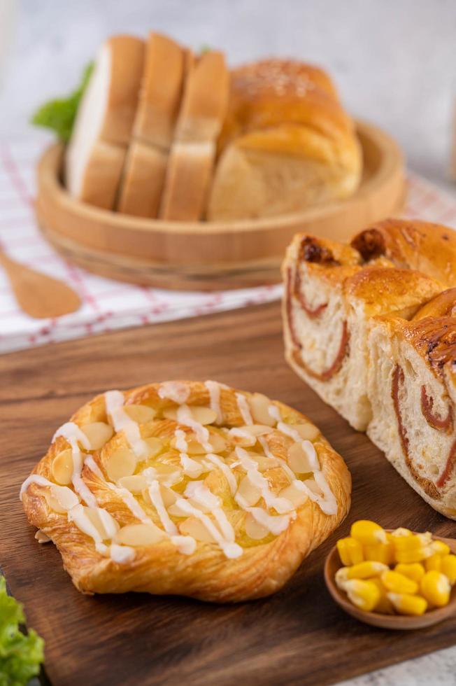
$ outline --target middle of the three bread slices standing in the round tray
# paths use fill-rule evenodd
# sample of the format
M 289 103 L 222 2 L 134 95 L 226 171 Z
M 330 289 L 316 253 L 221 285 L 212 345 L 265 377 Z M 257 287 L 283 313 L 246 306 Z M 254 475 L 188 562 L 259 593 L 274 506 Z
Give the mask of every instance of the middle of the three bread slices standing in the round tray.
M 157 217 L 185 73 L 185 50 L 151 33 L 117 209 Z

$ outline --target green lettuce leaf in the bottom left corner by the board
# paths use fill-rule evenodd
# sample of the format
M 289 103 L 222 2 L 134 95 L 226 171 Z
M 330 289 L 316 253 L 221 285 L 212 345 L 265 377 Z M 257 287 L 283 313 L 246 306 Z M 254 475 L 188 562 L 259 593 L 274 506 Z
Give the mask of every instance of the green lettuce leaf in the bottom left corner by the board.
M 0 686 L 25 686 L 40 671 L 44 641 L 33 629 L 22 633 L 24 622 L 21 603 L 8 596 L 0 575 Z

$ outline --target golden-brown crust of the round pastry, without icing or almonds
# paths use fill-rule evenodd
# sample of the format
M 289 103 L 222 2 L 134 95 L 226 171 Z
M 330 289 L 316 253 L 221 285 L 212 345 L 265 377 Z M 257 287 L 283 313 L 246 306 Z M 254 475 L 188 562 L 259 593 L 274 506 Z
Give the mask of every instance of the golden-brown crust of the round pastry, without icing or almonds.
M 189 389 L 190 396 L 187 402 L 190 405 L 208 406 L 210 395 L 204 384 L 196 381 L 179 383 L 185 384 Z M 159 388 L 160 384 L 149 384 L 127 391 L 124 393 L 125 405 L 139 404 L 152 407 L 157 410 L 160 417 L 160 413 L 170 407 L 176 407 L 176 403 L 161 398 Z M 252 397 L 252 394 L 245 392 L 241 395 L 248 401 Z M 308 420 L 296 410 L 280 402 L 275 402 L 274 405 L 280 409 L 286 423 L 308 423 Z M 243 416 L 234 389 L 221 388 L 220 407 L 224 418 L 223 426 L 243 426 Z M 98 395 L 81 407 L 71 421 L 76 422 L 78 426 L 108 421 L 104 395 Z M 143 438 L 155 436 L 166 440 L 166 437 L 173 435 L 175 429 L 176 421 L 157 419 L 141 424 L 141 435 Z M 286 458 L 287 448 L 292 442 L 289 437 L 274 430 L 268 442 L 274 454 Z M 66 439 L 57 437 L 33 473 L 52 479 L 52 463 L 67 445 Z M 106 468 L 113 451 L 124 445 L 123 433 L 117 433 L 104 447 L 92 451 L 92 458 L 101 470 L 103 478 L 97 476 L 87 464 L 82 472 L 83 480 L 96 496 L 99 506 L 105 507 L 120 526 L 137 520 L 122 498 L 107 486 L 105 479 Z M 155 594 L 183 594 L 218 602 L 259 598 L 283 586 L 304 557 L 327 538 L 348 512 L 350 474 L 345 463 L 318 431 L 315 433 L 313 445 L 322 472 L 336 498 L 337 514 L 324 514 L 318 505 L 307 500 L 304 505 L 299 506 L 296 519 L 291 521 L 283 533 L 276 537 L 269 536 L 265 539 L 266 542 L 263 542 L 249 541 L 248 537 L 245 538 L 245 533 L 242 533 L 243 517 L 241 516 L 240 521 L 238 517 L 236 524 L 234 512 L 231 521 L 234 522 L 236 529 L 236 540 L 240 540 L 243 545 L 243 554 L 237 559 L 227 559 L 213 543 L 198 543 L 193 554 L 183 555 L 177 552 L 169 540 L 164 539 L 155 545 L 136 547 L 134 559 L 129 563 L 120 564 L 97 552 L 92 539 L 82 533 L 72 521 L 67 521 L 65 514 L 59 514 L 51 509 L 46 498 L 48 486 L 29 484 L 23 496 L 24 510 L 31 524 L 40 528 L 55 542 L 62 554 L 64 567 L 76 587 L 83 592 L 148 591 Z M 273 490 L 280 488 L 282 479 L 277 471 L 270 469 L 264 472 Z M 227 482 L 222 472 L 209 472 L 206 482 L 208 479 L 211 479 L 211 490 L 225 498 L 224 509 L 229 511 L 234 505 L 229 504 L 231 501 L 227 496 Z M 157 512 L 154 508 L 142 501 L 141 505 L 157 522 Z

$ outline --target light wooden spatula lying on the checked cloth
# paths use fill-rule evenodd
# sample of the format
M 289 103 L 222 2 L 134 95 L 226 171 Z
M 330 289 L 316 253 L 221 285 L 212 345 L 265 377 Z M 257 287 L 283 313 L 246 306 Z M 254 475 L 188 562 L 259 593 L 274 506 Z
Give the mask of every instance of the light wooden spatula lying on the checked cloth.
M 80 298 L 66 283 L 35 272 L 1 251 L 0 264 L 8 274 L 20 308 L 31 317 L 59 317 L 79 309 Z

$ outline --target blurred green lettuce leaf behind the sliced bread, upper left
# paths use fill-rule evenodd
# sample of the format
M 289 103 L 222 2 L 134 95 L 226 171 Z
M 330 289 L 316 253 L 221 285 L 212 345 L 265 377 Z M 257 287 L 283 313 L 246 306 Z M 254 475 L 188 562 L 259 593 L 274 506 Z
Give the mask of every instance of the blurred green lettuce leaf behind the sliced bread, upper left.
M 73 130 L 74 120 L 78 112 L 81 97 L 87 88 L 92 76 L 94 63 L 90 62 L 84 69 L 83 77 L 78 88 L 66 98 L 49 100 L 41 105 L 31 118 L 31 123 L 51 129 L 57 134 L 57 138 L 68 143 Z M 0 683 L 1 686 L 1 683 Z

